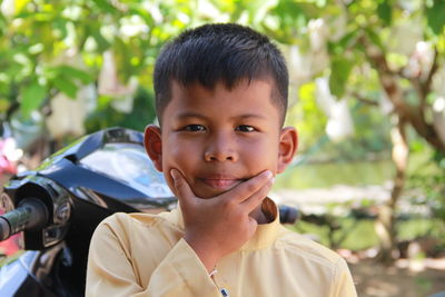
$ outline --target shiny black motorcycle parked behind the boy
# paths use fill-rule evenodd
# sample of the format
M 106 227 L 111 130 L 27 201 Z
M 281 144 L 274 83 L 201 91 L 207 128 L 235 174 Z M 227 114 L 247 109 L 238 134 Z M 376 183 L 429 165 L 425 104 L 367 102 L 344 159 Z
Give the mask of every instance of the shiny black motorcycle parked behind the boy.
M 24 251 L 0 268 L 0 296 L 83 296 L 88 248 L 102 219 L 175 207 L 140 131 L 109 128 L 80 138 L 4 185 L 0 241 L 21 232 Z M 283 224 L 298 216 L 288 206 L 279 212 Z

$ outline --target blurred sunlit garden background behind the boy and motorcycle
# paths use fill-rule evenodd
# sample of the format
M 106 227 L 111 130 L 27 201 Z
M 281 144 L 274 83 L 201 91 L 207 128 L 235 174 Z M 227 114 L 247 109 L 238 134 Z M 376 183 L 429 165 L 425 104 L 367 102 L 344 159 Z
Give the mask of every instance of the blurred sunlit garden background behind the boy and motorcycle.
M 144 130 L 162 44 L 237 22 L 288 62 L 299 151 L 270 195 L 300 210 L 288 227 L 344 256 L 359 296 L 445 290 L 444 16 L 443 0 L 0 1 L 1 184 L 85 133 Z

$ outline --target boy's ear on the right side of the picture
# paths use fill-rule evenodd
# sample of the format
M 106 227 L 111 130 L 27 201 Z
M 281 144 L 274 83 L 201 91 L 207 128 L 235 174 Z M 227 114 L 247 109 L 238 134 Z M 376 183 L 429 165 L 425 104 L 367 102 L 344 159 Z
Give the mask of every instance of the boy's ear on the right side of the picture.
M 298 147 L 297 130 L 294 127 L 285 127 L 279 137 L 277 174 L 281 174 L 294 159 Z

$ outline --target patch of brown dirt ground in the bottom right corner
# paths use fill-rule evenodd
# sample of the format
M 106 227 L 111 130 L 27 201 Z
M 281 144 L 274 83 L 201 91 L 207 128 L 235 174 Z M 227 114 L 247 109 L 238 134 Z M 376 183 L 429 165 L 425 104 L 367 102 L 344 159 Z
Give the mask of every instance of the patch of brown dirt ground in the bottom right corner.
M 390 267 L 373 259 L 352 261 L 348 264 L 359 297 L 427 297 L 438 293 L 445 297 L 445 258 L 400 259 Z

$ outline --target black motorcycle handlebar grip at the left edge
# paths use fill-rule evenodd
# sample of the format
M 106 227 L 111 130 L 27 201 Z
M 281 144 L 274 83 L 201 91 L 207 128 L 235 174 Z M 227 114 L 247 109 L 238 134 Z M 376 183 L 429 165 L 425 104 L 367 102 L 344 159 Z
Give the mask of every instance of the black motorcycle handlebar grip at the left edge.
M 18 208 L 0 216 L 0 241 L 23 230 L 37 230 L 48 222 L 47 206 L 37 198 L 21 200 Z

